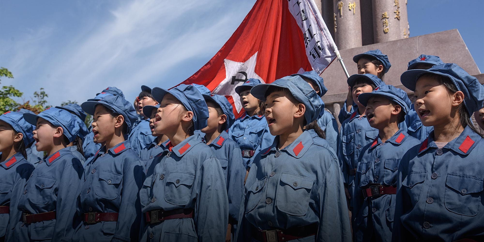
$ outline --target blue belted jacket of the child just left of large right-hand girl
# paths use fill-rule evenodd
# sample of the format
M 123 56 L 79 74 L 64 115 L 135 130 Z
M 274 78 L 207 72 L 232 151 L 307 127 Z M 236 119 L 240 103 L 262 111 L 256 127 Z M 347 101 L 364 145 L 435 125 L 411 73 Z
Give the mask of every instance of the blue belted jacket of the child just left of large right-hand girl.
M 392 241 L 395 194 L 363 197 L 363 189 L 375 184 L 396 187 L 398 165 L 403 155 L 420 141 L 403 129 L 381 142 L 379 136 L 360 153 L 353 194 L 355 242 Z M 373 239 L 372 239 L 373 237 Z

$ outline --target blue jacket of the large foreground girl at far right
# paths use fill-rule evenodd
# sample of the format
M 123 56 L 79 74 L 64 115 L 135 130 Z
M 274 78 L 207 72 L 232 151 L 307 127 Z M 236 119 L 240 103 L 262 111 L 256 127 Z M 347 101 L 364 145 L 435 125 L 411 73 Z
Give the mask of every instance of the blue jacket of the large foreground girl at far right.
M 483 241 L 484 139 L 466 127 L 438 149 L 433 136 L 400 162 L 393 241 Z

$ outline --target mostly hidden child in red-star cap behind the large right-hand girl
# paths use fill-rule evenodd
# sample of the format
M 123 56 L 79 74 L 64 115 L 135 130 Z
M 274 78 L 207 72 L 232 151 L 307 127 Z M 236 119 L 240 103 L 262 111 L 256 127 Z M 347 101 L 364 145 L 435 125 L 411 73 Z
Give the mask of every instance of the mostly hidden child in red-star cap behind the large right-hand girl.
M 443 63 L 444 62 L 442 62 L 438 56 L 420 55 L 417 59 L 408 62 L 407 70 L 426 70 L 434 65 L 440 65 Z M 415 108 L 413 105 L 411 105 L 410 111 L 408 111 L 405 122 L 408 127 L 408 134 L 420 139 L 420 141 L 425 140 L 430 132 L 434 130 L 432 126 L 427 127 L 422 125 L 422 121 L 420 121 L 419 116 L 417 115 L 417 112 L 415 112 Z

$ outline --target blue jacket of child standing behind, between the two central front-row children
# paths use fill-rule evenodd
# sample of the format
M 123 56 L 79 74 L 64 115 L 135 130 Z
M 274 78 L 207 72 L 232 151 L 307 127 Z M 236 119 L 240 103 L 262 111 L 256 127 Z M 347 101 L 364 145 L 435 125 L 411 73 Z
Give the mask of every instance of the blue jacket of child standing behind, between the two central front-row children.
M 220 136 L 208 146 L 212 148 L 224 172 L 228 197 L 228 221 L 237 224 L 246 173 L 241 149 L 235 141 L 228 137 L 225 131 L 222 131 Z

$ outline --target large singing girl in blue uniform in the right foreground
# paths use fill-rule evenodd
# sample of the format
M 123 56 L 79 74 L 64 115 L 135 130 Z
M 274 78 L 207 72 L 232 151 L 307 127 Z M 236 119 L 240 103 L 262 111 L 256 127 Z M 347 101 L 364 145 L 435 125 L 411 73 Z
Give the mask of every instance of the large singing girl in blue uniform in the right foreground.
M 400 162 L 393 241 L 484 241 L 484 138 L 469 119 L 484 87 L 454 63 L 406 71 L 401 81 L 434 131 Z

